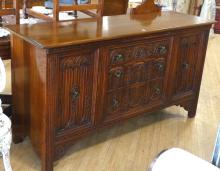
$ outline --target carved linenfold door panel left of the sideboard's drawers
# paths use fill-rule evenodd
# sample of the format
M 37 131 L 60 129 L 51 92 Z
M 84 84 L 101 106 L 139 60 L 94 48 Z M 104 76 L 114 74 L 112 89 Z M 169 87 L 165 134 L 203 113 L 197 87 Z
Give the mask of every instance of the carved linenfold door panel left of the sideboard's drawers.
M 60 59 L 57 133 L 91 126 L 93 63 L 92 54 Z

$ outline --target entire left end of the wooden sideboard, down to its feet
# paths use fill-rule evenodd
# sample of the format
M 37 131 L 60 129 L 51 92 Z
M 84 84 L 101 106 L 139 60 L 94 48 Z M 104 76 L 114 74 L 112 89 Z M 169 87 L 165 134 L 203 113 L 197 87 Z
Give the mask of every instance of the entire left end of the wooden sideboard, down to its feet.
M 50 122 L 46 109 L 46 53 L 15 35 L 11 37 L 14 142 L 29 135 L 43 168 L 51 167 L 52 160 L 47 162 L 53 155 L 48 152 L 53 146 L 47 147 L 53 134 L 47 133 Z

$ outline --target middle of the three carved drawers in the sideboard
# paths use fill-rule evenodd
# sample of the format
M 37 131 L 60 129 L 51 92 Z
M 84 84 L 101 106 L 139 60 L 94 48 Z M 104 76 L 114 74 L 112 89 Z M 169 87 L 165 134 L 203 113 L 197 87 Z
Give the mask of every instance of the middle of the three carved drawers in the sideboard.
M 165 58 L 151 58 L 148 61 L 138 61 L 114 67 L 109 70 L 108 90 L 163 78 L 165 71 Z

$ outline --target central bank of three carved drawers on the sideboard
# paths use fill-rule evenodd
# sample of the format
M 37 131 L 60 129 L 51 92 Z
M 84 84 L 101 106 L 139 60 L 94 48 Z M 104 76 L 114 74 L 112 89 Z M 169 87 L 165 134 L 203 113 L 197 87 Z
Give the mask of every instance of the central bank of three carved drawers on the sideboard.
M 164 101 L 170 40 L 125 45 L 109 50 L 105 119 Z

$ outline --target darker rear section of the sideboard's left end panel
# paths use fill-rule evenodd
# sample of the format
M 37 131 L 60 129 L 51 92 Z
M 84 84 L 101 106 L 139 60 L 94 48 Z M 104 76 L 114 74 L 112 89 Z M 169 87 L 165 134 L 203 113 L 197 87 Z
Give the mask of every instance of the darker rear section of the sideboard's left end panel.
M 12 129 L 13 141 L 21 142 L 28 134 L 29 125 L 29 59 L 27 44 L 16 37 L 11 36 L 12 43 Z

